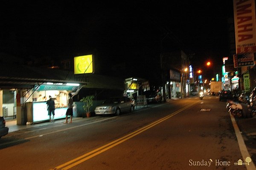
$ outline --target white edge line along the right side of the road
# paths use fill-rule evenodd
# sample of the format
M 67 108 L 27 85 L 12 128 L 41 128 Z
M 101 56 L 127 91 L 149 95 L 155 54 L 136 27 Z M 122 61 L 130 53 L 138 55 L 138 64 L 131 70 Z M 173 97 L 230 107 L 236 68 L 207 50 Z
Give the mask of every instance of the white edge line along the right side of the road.
M 230 118 L 231 118 L 231 121 L 232 121 L 234 130 L 235 130 L 235 133 L 236 133 L 236 138 L 237 138 L 237 141 L 238 141 L 238 145 L 239 145 L 240 152 L 241 152 L 242 157 L 243 157 L 243 159 L 244 159 L 244 161 L 245 161 L 245 159 L 246 159 L 247 157 L 250 157 L 250 154 L 249 154 L 249 152 L 248 152 L 248 150 L 247 150 L 246 145 L 244 144 L 244 139 L 243 139 L 243 137 L 242 137 L 242 135 L 241 135 L 241 132 L 240 132 L 240 130 L 239 130 L 239 127 L 238 127 L 238 125 L 236 124 L 236 119 L 234 118 L 233 115 L 231 115 L 231 113 L 230 113 Z M 247 170 L 256 170 L 255 165 L 253 164 L 253 161 L 250 162 L 250 165 L 246 165 L 246 169 L 247 169 Z

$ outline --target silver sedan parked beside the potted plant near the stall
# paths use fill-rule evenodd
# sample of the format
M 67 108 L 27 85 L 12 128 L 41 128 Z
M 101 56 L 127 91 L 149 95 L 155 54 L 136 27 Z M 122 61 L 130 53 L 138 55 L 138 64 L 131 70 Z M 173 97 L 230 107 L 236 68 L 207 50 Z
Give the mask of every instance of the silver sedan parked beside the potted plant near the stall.
M 115 114 L 119 115 L 121 112 L 133 112 L 135 102 L 127 97 L 109 98 L 103 102 L 102 105 L 95 108 L 96 115 Z

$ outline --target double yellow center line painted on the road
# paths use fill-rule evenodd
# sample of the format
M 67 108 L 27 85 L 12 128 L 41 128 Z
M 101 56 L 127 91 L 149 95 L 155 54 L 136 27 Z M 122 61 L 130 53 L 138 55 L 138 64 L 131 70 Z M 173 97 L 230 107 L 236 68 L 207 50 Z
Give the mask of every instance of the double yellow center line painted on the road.
M 82 156 L 79 156 L 79 157 L 77 157 L 77 158 L 75 158 L 75 159 L 73 159 L 71 161 L 68 161 L 68 162 L 66 162 L 64 164 L 61 164 L 61 165 L 55 167 L 55 168 L 52 168 L 51 170 L 68 170 L 68 169 L 70 169 L 70 168 L 72 168 L 72 167 L 74 167 L 74 166 L 76 166 L 78 164 L 81 164 L 84 161 L 87 161 L 90 158 L 93 158 L 94 156 L 97 156 L 97 155 L 99 155 L 99 154 L 101 154 L 101 153 L 111 149 L 112 147 L 115 147 L 118 144 L 123 143 L 124 141 L 127 141 L 130 138 L 133 138 L 136 135 L 139 135 L 140 133 L 143 133 L 145 130 L 150 129 L 151 127 L 154 127 L 157 124 L 160 124 L 161 122 L 166 121 L 167 119 L 171 118 L 174 115 L 177 115 L 179 112 L 182 112 L 183 110 L 191 107 L 194 104 L 195 103 L 189 104 L 188 106 L 186 106 L 186 107 L 184 107 L 184 108 L 182 108 L 182 109 L 180 109 L 180 110 L 178 110 L 176 112 L 173 112 L 171 115 L 168 115 L 168 116 L 166 116 L 164 118 L 161 118 L 158 121 L 155 121 L 155 122 L 153 122 L 151 124 L 148 124 L 147 126 L 145 126 L 143 128 L 140 128 L 139 130 L 136 130 L 136 131 L 134 131 L 132 133 L 129 133 L 128 135 L 125 135 L 122 138 L 116 139 L 115 141 L 112 141 L 112 142 L 110 142 L 108 144 L 105 144 L 102 147 L 97 148 L 96 150 L 93 150 L 93 151 L 91 151 L 89 153 L 86 153 L 86 154 L 84 154 Z

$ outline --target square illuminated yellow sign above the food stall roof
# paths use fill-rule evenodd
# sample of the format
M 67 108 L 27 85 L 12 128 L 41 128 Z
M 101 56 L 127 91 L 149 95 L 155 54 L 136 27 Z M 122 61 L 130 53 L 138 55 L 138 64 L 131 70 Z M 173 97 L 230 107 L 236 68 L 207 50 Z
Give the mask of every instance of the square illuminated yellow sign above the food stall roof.
M 93 55 L 83 55 L 74 58 L 75 74 L 84 74 L 93 72 Z

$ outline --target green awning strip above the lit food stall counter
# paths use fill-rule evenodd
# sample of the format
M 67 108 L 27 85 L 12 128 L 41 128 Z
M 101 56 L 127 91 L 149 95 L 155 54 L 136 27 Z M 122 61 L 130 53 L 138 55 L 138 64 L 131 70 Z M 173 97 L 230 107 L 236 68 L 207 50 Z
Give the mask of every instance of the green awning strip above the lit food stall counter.
M 66 85 L 47 85 L 47 84 L 42 84 L 39 86 L 35 86 L 34 90 L 37 91 L 46 91 L 46 90 L 69 90 L 73 91 L 76 90 L 78 86 L 66 86 Z

